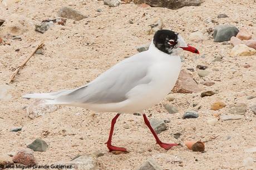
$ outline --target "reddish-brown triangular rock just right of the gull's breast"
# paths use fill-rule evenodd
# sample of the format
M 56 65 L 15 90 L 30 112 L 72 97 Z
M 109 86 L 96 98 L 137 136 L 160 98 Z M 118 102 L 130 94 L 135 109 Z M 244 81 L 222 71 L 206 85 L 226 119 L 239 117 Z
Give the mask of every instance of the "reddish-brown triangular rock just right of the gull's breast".
M 201 89 L 190 73 L 181 70 L 178 81 L 172 91 L 174 93 L 198 93 Z

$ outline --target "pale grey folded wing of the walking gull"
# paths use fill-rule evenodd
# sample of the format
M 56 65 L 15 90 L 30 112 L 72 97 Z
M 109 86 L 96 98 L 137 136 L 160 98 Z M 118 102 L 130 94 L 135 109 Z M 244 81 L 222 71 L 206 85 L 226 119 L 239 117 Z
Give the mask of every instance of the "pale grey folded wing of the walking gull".
M 132 88 L 151 81 L 147 76 L 150 59 L 141 54 L 116 64 L 86 86 L 56 98 L 57 101 L 97 104 L 125 101 Z

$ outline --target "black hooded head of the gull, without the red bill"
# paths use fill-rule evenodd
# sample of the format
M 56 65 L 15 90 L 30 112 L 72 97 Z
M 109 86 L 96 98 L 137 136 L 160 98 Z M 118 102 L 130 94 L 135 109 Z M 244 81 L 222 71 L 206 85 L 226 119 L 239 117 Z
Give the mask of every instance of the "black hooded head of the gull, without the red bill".
M 160 51 L 171 54 L 174 48 L 178 48 L 178 33 L 161 29 L 154 35 L 154 44 Z

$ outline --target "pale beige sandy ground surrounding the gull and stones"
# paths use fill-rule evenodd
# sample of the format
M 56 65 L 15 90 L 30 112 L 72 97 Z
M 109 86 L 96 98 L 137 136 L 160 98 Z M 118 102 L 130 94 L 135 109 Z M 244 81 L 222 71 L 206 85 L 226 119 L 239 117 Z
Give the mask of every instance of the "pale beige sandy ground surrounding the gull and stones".
M 66 26 L 52 27 L 45 34 L 34 31 L 34 24 L 43 19 L 57 18 L 58 9 L 67 5 L 89 17 L 76 22 L 68 19 Z M 97 12 L 98 8 L 103 12 Z M 28 0 L 8 8 L 0 4 L 0 9 L 0 19 L 24 20 L 26 24 L 22 28 L 27 29 L 21 34 L 22 41 L 7 39 L 11 46 L 0 45 L 0 84 L 7 83 L 13 68 L 33 51 L 41 39 L 45 39 L 44 54 L 33 56 L 14 83 L 10 84 L 12 99 L 0 101 L 0 153 L 16 152 L 34 139 L 42 138 L 49 147 L 46 152 L 35 152 L 39 164 L 69 161 L 77 154 L 95 151 L 104 153 L 104 156 L 97 158 L 101 169 L 136 169 L 149 157 L 154 158 L 163 169 L 246 169 L 244 159 L 252 157 L 256 160 L 256 153 L 244 152 L 244 149 L 256 146 L 256 117 L 250 109 L 238 121 L 219 121 L 215 126 L 207 123 L 208 119 L 214 118 L 214 113 L 229 114 L 230 104 L 242 102 L 249 108 L 256 103 L 256 98 L 247 99 L 256 95 L 256 56 L 230 57 L 232 46 L 214 43 L 213 39 L 208 38 L 206 28 L 214 27 L 214 24 L 205 22 L 210 17 L 219 24 L 233 24 L 238 28 L 244 26 L 256 37 L 256 4 L 252 0 L 205 0 L 200 7 L 178 10 L 141 8 L 135 4 L 109 8 L 102 1 L 86 1 L 84 4 L 83 1 Z M 144 13 L 145 17 L 142 17 Z M 216 18 L 219 13 L 226 13 L 229 18 Z M 159 134 L 164 142 L 184 143 L 189 139 L 206 141 L 218 136 L 205 143 L 206 152 L 192 152 L 186 147 L 165 151 L 155 144 L 142 117 L 132 114 L 120 116 L 116 123 L 113 142 L 130 151 L 120 155 L 109 153 L 104 144 L 115 113 L 94 115 L 95 112 L 86 109 L 62 107 L 42 117 L 27 117 L 22 108 L 32 101 L 22 99 L 22 94 L 75 88 L 91 81 L 115 63 L 137 53 L 136 46 L 150 42 L 152 35 L 147 35 L 146 31 L 157 17 L 163 18 L 164 28 L 179 32 L 185 39 L 189 39 L 189 34 L 196 30 L 206 33 L 203 43 L 187 41 L 198 48 L 200 56 L 204 55 L 205 58 L 184 52 L 183 68 L 195 68 L 196 64 L 208 66 L 210 74 L 204 79 L 215 84 L 211 87 L 199 86 L 204 91 L 213 90 L 218 94 L 204 98 L 200 97 L 200 93 L 173 94 L 173 102 L 161 101 L 146 113 L 152 113 L 151 118 L 170 119 L 168 130 Z M 129 23 L 130 19 L 134 19 L 134 24 Z M 0 31 L 0 34 L 4 36 L 6 33 Z M 19 52 L 15 52 L 17 48 Z M 223 61 L 211 62 L 216 56 L 224 57 Z M 250 68 L 243 67 L 247 63 Z M 196 71 L 191 73 L 196 81 L 203 81 Z M 217 100 L 228 106 L 211 111 L 210 104 Z M 167 113 L 163 103 L 178 107 L 179 113 Z M 193 103 L 201 106 L 199 118 L 181 119 L 184 111 L 193 108 Z M 130 128 L 125 129 L 124 124 Z M 13 127 L 23 128 L 18 133 L 9 132 Z M 42 135 L 45 131 L 49 132 L 47 137 Z M 179 139 L 173 136 L 177 132 L 181 133 Z M 173 156 L 183 160 L 183 167 L 170 162 Z M 255 162 L 253 166 L 256 169 Z

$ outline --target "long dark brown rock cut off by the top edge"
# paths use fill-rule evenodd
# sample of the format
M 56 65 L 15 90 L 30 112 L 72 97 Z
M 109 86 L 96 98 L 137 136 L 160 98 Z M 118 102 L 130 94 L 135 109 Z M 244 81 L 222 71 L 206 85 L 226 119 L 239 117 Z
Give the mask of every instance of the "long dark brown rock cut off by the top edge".
M 151 7 L 179 9 L 185 6 L 200 6 L 203 0 L 132 0 L 135 4 L 146 3 Z

